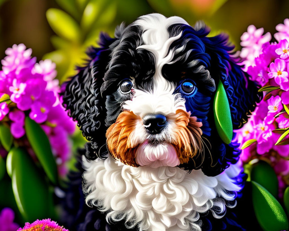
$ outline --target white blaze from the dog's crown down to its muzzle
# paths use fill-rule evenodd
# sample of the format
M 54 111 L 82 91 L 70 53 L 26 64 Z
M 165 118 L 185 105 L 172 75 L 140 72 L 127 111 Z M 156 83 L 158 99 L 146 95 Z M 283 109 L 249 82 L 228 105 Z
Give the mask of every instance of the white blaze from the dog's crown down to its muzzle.
M 123 108 L 141 117 L 147 113 L 168 115 L 175 113 L 177 109 L 186 111 L 184 100 L 179 94 L 174 94 L 175 84 L 162 76 L 162 67 L 171 62 L 174 53 L 169 51 L 169 47 L 182 35 L 181 32 L 170 38 L 168 27 L 188 23 L 177 16 L 166 18 L 161 14 L 149 14 L 141 16 L 134 24 L 139 25 L 144 31 L 142 34 L 144 44 L 137 49 L 146 49 L 154 55 L 155 75 L 152 92 L 136 89 L 133 99 L 126 101 Z

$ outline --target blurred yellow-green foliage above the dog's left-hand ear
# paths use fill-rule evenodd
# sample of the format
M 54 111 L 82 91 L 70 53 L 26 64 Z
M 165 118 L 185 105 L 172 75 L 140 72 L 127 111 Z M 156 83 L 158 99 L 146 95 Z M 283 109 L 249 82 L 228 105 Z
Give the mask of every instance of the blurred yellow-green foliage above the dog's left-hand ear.
M 63 10 L 51 8 L 46 17 L 57 36 L 51 38 L 55 51 L 44 56 L 56 63 L 60 83 L 76 74 L 83 65 L 88 46 L 97 46 L 100 31 L 112 33 L 116 17 L 116 0 L 58 0 Z M 65 12 L 65 11 L 66 12 Z

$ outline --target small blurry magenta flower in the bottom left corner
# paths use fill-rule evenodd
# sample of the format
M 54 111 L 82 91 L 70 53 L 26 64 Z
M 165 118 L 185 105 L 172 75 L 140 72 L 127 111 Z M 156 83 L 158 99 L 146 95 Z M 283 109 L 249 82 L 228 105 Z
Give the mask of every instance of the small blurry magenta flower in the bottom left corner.
M 19 225 L 14 223 L 14 212 L 11 208 L 3 208 L 0 213 L 0 230 L 15 231 Z

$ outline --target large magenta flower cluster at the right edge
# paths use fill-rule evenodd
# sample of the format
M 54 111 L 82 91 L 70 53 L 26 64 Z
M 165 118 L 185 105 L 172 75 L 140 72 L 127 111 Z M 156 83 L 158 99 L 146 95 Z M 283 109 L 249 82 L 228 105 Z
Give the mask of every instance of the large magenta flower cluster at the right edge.
M 244 58 L 244 70 L 251 80 L 267 89 L 264 89 L 264 99 L 248 123 L 236 132 L 241 145 L 255 140 L 242 151 L 241 160 L 248 163 L 257 158 L 271 163 L 281 191 L 289 174 L 289 137 L 285 136 L 278 145 L 275 144 L 289 128 L 289 115 L 285 110 L 289 106 L 289 19 L 277 25 L 276 29 L 278 32 L 274 37 L 277 42 L 270 43 L 271 34 L 263 35 L 263 28 L 256 29 L 253 25 L 241 37 L 244 48 L 240 55 Z

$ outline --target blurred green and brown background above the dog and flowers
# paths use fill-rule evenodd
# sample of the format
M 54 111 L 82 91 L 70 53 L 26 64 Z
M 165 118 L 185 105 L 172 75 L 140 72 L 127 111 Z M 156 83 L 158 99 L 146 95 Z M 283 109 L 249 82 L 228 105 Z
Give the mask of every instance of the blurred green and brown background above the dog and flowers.
M 84 51 L 96 45 L 100 31 L 113 35 L 116 25 L 142 14 L 177 15 L 191 25 L 203 20 L 212 34 L 228 33 L 240 49 L 249 25 L 273 34 L 289 17 L 288 9 L 287 0 L 0 0 L 0 58 L 7 47 L 24 43 L 38 60 L 57 64 L 62 82 L 84 62 Z

